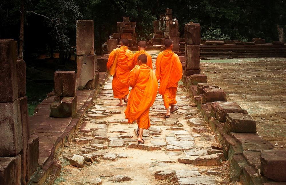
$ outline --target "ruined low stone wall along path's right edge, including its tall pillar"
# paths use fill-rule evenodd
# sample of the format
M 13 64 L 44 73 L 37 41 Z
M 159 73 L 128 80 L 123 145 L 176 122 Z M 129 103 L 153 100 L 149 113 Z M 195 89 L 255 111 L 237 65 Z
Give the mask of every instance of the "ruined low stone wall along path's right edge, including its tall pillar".
M 275 150 L 270 142 L 263 140 L 247 110 L 235 102 L 227 102 L 225 91 L 207 83 L 206 75 L 192 74 L 197 64 L 192 55 L 199 56 L 201 46 L 199 29 L 199 24 L 185 25 L 186 70 L 182 79 L 192 101 L 222 145 L 225 158 L 229 159 L 230 180 L 243 185 L 285 184 L 286 149 Z

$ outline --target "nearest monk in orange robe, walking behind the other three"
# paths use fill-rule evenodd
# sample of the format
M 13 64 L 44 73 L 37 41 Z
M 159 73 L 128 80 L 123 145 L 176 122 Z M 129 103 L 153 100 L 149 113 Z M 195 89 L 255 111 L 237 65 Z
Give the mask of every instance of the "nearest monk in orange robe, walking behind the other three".
M 146 63 L 147 55 L 139 55 L 138 65 L 135 65 L 129 73 L 128 82 L 132 89 L 124 111 L 125 118 L 129 123 L 137 120 L 139 144 L 144 143 L 143 130 L 150 127 L 149 109 L 153 105 L 158 91 L 158 80 Z

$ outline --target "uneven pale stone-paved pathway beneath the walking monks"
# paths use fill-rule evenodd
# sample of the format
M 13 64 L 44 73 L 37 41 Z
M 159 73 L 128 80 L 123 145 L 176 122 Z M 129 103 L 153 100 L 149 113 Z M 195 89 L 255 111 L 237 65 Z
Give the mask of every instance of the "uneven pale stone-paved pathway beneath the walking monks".
M 115 106 L 112 77 L 86 112 L 80 130 L 66 143 L 55 184 L 240 184 L 229 180 L 229 163 L 179 82 L 179 110 L 163 118 L 160 94 L 150 108 L 151 127 L 145 144 L 137 143 L 137 124 L 129 124 L 123 107 Z M 62 182 L 61 182 L 62 181 Z

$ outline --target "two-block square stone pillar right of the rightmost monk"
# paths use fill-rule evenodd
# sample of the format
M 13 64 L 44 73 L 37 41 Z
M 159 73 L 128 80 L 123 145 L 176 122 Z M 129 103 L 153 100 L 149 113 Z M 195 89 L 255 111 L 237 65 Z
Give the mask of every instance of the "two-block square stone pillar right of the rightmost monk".
M 200 24 L 185 24 L 185 75 L 200 74 Z

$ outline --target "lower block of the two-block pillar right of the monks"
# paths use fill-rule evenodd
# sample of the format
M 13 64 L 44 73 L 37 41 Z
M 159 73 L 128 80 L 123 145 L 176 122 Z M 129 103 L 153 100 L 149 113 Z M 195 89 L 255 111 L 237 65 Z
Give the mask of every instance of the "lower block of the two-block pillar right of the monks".
M 186 69 L 200 69 L 200 45 L 185 45 Z

